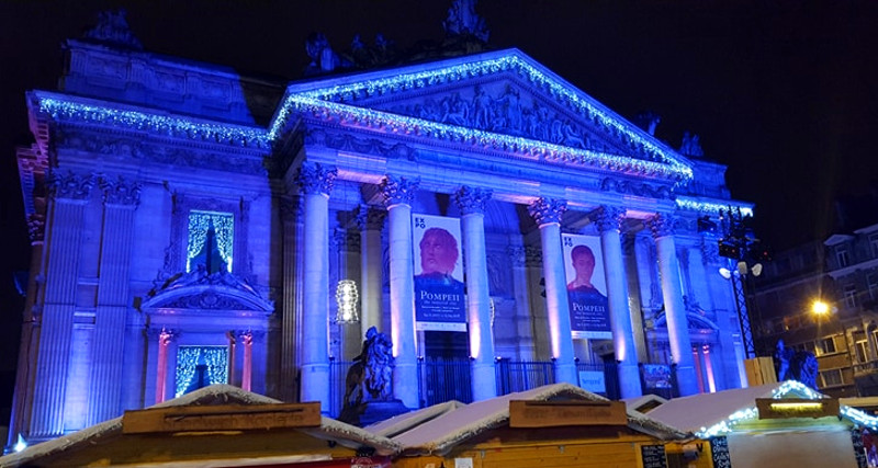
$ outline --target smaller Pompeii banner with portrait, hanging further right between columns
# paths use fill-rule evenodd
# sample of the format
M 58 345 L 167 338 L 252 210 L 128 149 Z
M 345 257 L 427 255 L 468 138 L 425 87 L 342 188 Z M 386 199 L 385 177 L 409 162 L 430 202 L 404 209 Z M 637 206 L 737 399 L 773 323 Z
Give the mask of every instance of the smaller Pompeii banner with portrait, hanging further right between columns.
M 600 238 L 562 235 L 573 338 L 611 340 Z

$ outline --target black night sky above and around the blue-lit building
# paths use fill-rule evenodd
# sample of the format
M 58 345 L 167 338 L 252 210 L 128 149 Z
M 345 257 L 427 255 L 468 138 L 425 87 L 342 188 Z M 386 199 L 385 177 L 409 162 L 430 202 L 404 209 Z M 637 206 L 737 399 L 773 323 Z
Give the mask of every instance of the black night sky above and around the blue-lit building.
M 354 34 L 371 45 L 376 33 L 408 48 L 444 36 L 450 4 L 0 1 L 0 370 L 14 367 L 19 343 L 12 272 L 30 258 L 14 158 L 33 141 L 24 92 L 56 88 L 65 38 L 123 7 L 149 52 L 293 80 L 312 32 L 337 50 Z M 878 179 L 878 2 L 482 0 L 476 11 L 491 46 L 520 48 L 624 117 L 660 114 L 656 136 L 671 146 L 698 134 L 776 249 L 824 239 L 837 196 Z

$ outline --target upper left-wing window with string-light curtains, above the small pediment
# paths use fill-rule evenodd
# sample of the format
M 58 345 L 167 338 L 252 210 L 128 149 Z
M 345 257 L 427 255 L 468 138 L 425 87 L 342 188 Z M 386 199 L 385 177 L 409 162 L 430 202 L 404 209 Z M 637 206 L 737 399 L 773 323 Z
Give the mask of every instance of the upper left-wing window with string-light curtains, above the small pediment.
M 189 213 L 187 273 L 204 265 L 209 273 L 232 272 L 232 247 L 235 243 L 235 218 L 230 213 Z

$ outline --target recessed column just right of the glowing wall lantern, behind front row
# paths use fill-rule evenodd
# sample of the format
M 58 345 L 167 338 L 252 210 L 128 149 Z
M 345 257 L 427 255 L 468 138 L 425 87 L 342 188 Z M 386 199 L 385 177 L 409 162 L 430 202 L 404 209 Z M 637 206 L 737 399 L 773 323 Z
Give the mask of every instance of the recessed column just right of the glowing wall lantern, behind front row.
M 387 212 L 373 206 L 362 205 L 357 214 L 360 227 L 360 334 L 365 340 L 370 327 L 383 331 L 382 326 L 382 252 L 381 229 Z

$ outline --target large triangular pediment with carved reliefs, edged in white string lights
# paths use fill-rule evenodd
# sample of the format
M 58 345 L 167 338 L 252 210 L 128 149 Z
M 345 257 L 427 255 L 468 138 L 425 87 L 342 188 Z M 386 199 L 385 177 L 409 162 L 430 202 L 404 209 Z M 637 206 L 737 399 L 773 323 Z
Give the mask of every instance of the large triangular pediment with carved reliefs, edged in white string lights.
M 690 162 L 517 49 L 293 84 L 291 115 L 672 180 Z

